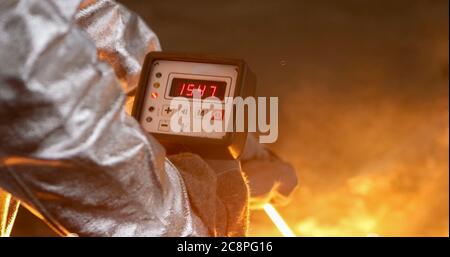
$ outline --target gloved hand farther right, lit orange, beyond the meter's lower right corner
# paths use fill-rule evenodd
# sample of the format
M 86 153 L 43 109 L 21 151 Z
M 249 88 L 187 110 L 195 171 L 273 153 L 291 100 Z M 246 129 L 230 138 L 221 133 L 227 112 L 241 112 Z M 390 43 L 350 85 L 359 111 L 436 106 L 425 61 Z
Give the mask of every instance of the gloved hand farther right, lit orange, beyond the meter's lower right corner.
M 289 202 L 298 183 L 295 169 L 252 135 L 247 139 L 241 165 L 248 180 L 251 209 L 260 209 L 266 203 L 285 205 Z

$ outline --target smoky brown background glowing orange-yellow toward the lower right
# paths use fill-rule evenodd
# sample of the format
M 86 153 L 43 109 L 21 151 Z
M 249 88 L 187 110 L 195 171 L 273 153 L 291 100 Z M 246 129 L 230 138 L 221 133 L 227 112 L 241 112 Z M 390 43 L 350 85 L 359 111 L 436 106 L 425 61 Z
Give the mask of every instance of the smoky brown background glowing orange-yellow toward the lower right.
M 448 236 L 448 1 L 120 2 L 163 50 L 245 59 L 279 97 L 299 236 Z M 250 234 L 279 235 L 261 211 Z

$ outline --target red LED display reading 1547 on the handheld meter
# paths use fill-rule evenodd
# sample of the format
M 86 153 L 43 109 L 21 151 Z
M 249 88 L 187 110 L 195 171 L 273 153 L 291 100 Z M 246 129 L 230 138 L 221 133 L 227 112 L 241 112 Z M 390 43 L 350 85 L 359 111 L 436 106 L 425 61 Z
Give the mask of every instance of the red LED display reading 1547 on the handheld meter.
M 227 83 L 225 81 L 174 78 L 170 86 L 169 96 L 193 98 L 194 92 L 197 90 L 202 99 L 217 97 L 223 100 L 226 88 Z

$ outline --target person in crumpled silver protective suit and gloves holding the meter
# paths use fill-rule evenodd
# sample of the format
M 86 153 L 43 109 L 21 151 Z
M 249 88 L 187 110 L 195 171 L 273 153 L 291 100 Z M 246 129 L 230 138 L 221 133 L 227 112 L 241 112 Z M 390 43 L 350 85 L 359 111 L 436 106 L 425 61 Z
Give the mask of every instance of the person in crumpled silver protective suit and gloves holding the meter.
M 292 167 L 254 139 L 243 175 L 237 162 L 166 156 L 126 114 L 157 50 L 113 1 L 1 1 L 1 234 L 20 201 L 65 236 L 244 236 L 249 199 L 289 196 Z

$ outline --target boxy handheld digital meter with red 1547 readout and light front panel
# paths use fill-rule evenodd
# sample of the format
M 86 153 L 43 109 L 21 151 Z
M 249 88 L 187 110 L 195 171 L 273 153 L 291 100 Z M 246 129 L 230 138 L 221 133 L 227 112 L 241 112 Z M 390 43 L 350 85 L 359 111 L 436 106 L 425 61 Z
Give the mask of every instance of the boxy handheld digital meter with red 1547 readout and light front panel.
M 171 119 L 180 114 L 177 112 L 186 112 L 191 121 L 209 114 L 212 123 L 224 122 L 226 111 L 233 113 L 231 118 L 236 118 L 236 109 L 226 105 L 225 99 L 253 96 L 255 86 L 255 76 L 242 60 L 151 52 L 145 57 L 132 115 L 169 153 L 177 149 L 206 158 L 237 159 L 245 146 L 246 131 L 192 132 L 189 128 L 193 122 L 181 124 L 187 129 L 176 131 Z M 203 104 L 205 108 L 195 109 L 196 97 L 205 103 L 216 99 L 219 104 Z M 189 110 L 174 107 L 173 101 L 180 98 L 186 99 Z

